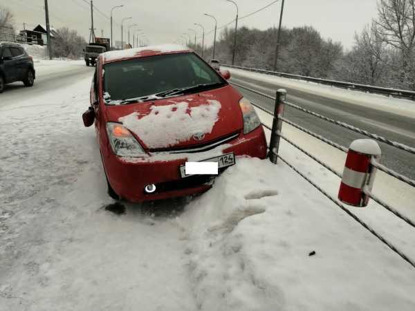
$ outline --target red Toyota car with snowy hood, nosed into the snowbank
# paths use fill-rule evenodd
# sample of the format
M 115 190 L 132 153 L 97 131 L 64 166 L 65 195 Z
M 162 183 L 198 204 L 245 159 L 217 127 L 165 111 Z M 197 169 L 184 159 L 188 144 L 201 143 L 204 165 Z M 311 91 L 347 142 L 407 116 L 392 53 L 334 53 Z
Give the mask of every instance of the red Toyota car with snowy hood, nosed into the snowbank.
M 248 100 L 192 50 L 153 46 L 98 57 L 85 126 L 95 121 L 109 195 L 131 202 L 208 190 L 215 175 L 186 162 L 266 158 L 261 122 Z M 214 163 L 215 164 L 215 163 Z

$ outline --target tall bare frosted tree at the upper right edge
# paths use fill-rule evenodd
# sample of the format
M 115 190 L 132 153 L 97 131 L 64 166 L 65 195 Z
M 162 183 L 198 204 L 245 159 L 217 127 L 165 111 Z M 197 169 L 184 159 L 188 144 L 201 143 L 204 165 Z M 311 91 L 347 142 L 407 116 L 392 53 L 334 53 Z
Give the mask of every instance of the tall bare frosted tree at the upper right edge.
M 415 0 L 380 0 L 374 23 L 382 40 L 400 52 L 403 86 L 415 89 Z

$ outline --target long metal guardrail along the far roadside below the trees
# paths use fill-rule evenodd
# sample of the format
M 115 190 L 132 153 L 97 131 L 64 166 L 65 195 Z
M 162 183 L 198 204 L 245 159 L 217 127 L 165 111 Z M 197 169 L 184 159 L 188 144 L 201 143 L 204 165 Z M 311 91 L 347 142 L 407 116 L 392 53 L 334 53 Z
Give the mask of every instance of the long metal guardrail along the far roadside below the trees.
M 329 86 L 336 86 L 338 88 L 348 88 L 353 91 L 364 91 L 369 93 L 381 94 L 381 95 L 389 95 L 393 97 L 399 98 L 406 98 L 408 100 L 415 100 L 415 91 L 409 90 L 400 90 L 398 88 L 384 88 L 382 86 L 372 86 L 372 85 L 365 85 L 365 84 L 357 84 L 351 82 L 342 82 L 342 81 L 335 81 L 331 79 L 320 79 L 316 77 L 306 77 L 304 75 L 292 75 L 290 73 L 279 73 L 277 71 L 259 69 L 259 68 L 249 68 L 249 67 L 242 67 L 242 66 L 232 66 L 228 64 L 222 64 L 222 66 L 229 67 L 229 68 L 236 68 L 241 70 L 248 70 L 255 73 L 265 73 L 266 75 L 275 75 L 277 77 L 286 77 L 289 79 L 299 79 L 309 82 L 315 82 L 318 84 L 324 84 Z

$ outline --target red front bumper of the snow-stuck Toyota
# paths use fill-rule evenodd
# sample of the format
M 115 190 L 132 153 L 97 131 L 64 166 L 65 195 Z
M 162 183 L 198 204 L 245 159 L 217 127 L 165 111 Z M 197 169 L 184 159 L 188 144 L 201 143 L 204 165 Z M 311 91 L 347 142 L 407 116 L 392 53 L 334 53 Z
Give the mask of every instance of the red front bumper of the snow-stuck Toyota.
M 267 146 L 262 126 L 246 135 L 239 135 L 226 144 L 228 145 L 229 147 L 206 158 L 230 152 L 235 156 L 266 158 Z M 198 156 L 196 153 L 194 155 Z M 111 187 L 121 198 L 130 202 L 188 196 L 210 189 L 214 176 L 181 178 L 179 168 L 186 161 L 185 154 L 176 154 L 172 160 L 169 160 L 169 157 L 160 160 L 157 156 L 147 159 L 125 159 L 115 156 L 112 151 L 107 157 L 102 158 Z M 144 188 L 150 184 L 156 185 L 156 192 L 146 194 Z

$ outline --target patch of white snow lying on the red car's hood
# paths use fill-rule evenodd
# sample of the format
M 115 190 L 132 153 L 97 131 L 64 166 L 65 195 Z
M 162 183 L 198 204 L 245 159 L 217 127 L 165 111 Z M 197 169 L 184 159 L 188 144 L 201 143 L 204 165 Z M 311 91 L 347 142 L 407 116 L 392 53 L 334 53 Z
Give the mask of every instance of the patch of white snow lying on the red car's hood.
M 150 113 L 140 117 L 133 112 L 118 119 L 135 133 L 149 148 L 167 148 L 192 138 L 194 133 L 208 134 L 219 120 L 221 103 L 207 100 L 206 104 L 189 107 L 188 102 L 167 106 L 151 106 Z

